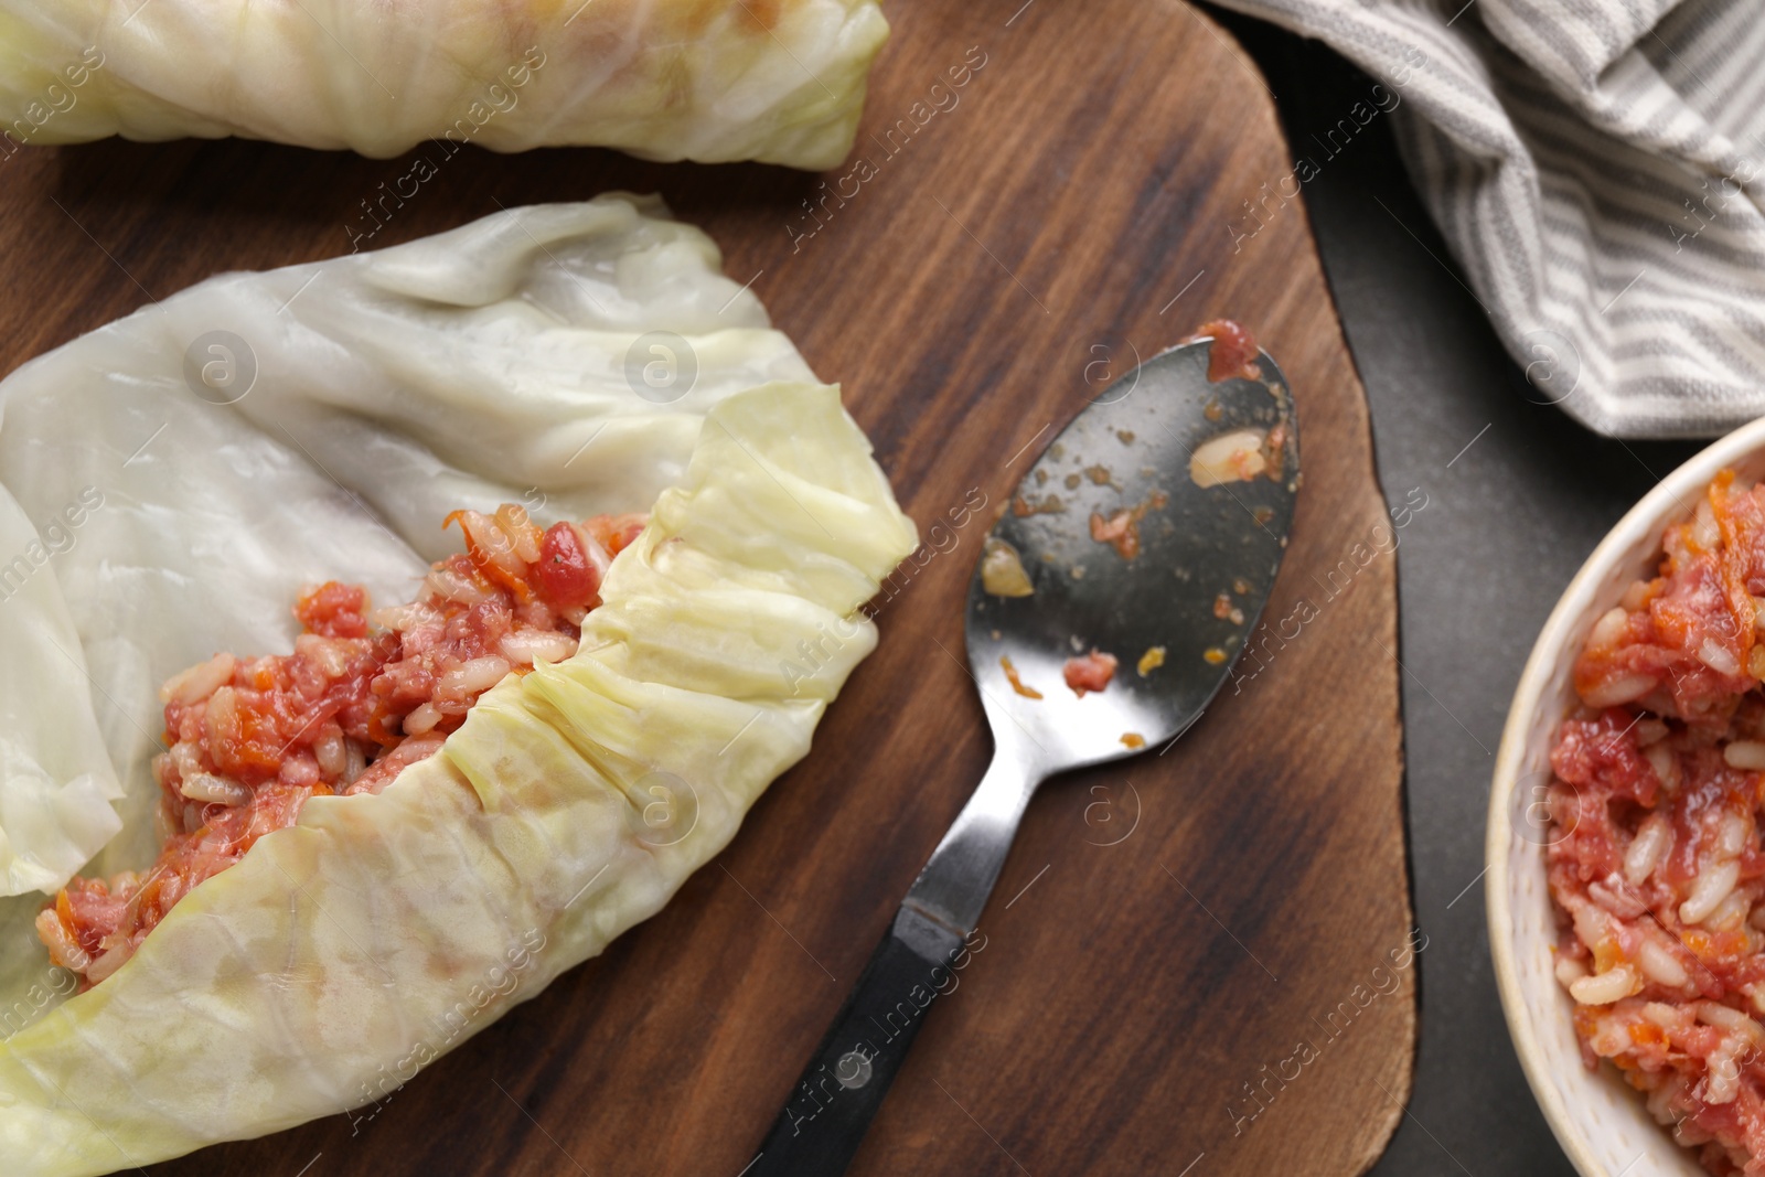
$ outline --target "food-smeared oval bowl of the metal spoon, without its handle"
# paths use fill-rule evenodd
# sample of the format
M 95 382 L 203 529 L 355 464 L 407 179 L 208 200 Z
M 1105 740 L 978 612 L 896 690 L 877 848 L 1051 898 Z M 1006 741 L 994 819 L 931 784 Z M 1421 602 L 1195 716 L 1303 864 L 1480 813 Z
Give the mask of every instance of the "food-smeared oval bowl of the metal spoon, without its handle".
M 1010 545 L 1029 595 L 988 591 L 987 554 L 974 568 L 969 667 L 994 738 L 1010 725 L 1031 739 L 1045 776 L 1174 739 L 1228 678 L 1274 586 L 1299 491 L 1292 394 L 1266 353 L 1258 379 L 1209 381 L 1209 346 L 1172 348 L 1105 388 L 1024 475 L 987 551 L 997 565 Z M 1251 476 L 1191 476 L 1211 441 L 1273 431 L 1278 452 L 1260 446 Z M 1094 521 L 1108 531 L 1121 512 L 1138 514 L 1133 556 L 1093 538 Z M 1119 665 L 1107 690 L 1078 695 L 1063 671 L 1091 649 Z

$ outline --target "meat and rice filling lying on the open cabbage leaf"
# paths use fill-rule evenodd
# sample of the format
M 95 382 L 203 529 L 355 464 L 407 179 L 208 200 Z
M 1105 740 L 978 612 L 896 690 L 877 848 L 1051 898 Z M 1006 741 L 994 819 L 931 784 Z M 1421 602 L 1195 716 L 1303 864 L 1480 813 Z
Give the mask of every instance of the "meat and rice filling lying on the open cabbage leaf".
M 598 515 L 540 529 L 512 505 L 447 522 L 466 552 L 431 566 L 413 602 L 371 609 L 360 586 L 321 584 L 295 605 L 291 655 L 215 655 L 161 688 L 159 861 L 76 877 L 37 916 L 81 988 L 122 967 L 191 888 L 291 826 L 307 798 L 379 792 L 505 676 L 574 655 L 612 556 L 644 526 Z

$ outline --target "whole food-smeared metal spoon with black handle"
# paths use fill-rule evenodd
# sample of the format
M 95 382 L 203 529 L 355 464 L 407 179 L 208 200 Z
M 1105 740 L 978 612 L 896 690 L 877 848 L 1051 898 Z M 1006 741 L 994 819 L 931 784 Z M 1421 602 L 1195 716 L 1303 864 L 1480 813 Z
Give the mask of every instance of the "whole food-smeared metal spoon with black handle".
M 994 524 L 967 602 L 992 766 L 743 1177 L 845 1172 L 925 1009 L 965 963 L 964 944 L 1036 785 L 1165 746 L 1230 676 L 1287 547 L 1299 438 L 1287 379 L 1267 353 L 1257 353 L 1258 379 L 1214 383 L 1213 346 L 1205 337 L 1172 348 L 1096 395 Z M 1202 485 L 1214 475 L 1228 480 Z M 1131 558 L 1124 510 L 1138 512 Z M 1033 591 L 999 595 L 1024 588 Z M 1119 665 L 1107 688 L 1080 695 L 1064 665 L 1093 649 Z

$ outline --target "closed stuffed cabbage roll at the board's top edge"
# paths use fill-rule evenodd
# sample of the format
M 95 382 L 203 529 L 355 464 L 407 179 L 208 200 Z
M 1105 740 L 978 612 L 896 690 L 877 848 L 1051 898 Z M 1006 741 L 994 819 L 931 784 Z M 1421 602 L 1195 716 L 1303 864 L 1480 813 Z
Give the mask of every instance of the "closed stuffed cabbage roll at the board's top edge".
M 886 37 L 875 0 L 0 0 L 0 152 L 436 139 L 822 169 Z

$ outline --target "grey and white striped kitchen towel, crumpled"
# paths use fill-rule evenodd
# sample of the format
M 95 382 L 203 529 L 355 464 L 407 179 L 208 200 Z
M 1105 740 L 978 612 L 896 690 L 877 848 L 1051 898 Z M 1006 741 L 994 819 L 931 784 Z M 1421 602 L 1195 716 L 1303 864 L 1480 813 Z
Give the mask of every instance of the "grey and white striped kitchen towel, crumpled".
M 1528 395 L 1620 438 L 1765 415 L 1760 0 L 1220 4 L 1375 78 Z

